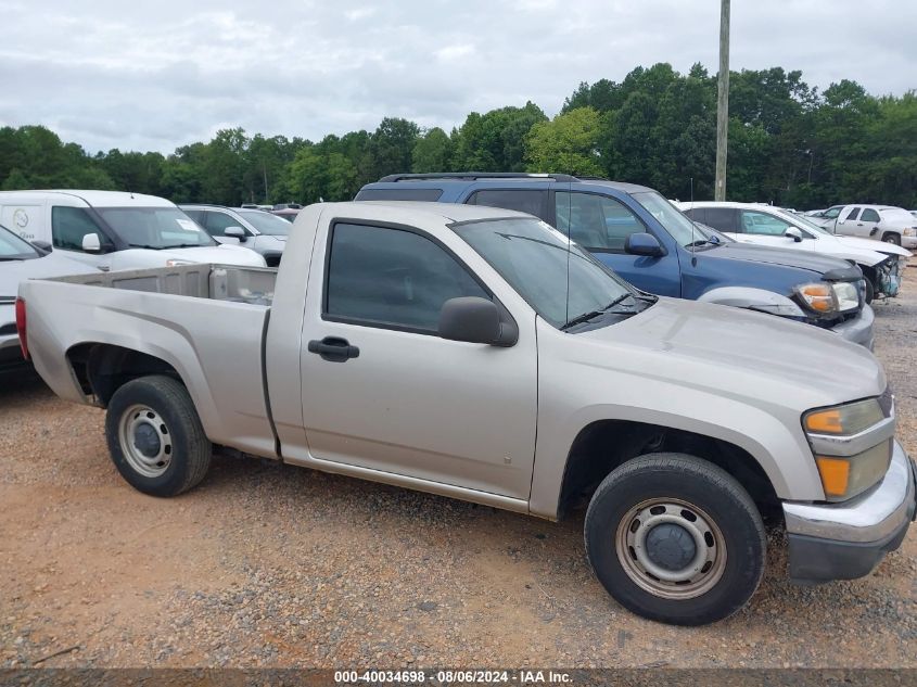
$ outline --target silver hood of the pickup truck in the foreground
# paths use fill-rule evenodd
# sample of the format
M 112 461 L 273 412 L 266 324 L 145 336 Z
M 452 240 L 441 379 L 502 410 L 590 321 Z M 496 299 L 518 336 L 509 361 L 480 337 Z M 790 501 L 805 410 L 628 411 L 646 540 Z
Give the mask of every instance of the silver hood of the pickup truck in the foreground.
M 882 367 L 865 347 L 813 325 L 721 305 L 661 297 L 574 336 L 583 346 L 571 345 L 571 356 L 581 364 L 800 410 L 886 389 Z

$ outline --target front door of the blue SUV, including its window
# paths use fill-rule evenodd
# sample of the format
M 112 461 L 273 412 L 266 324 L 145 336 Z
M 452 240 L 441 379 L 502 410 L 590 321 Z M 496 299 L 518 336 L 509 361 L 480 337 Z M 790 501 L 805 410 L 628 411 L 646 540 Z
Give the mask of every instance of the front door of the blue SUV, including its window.
M 653 233 L 624 203 L 599 193 L 558 191 L 555 207 L 551 224 L 632 284 L 663 296 L 682 295 L 682 269 L 674 252 L 653 257 L 624 251 L 632 233 Z

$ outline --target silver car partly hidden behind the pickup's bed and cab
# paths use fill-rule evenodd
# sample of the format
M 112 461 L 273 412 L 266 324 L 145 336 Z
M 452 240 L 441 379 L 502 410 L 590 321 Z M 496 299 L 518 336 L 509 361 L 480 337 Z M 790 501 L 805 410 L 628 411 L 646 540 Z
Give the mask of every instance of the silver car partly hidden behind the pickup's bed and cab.
M 184 214 L 201 225 L 220 243 L 238 241 L 246 249 L 260 253 L 268 267 L 277 267 L 290 222 L 280 217 L 251 207 L 224 207 L 222 205 L 179 205 Z

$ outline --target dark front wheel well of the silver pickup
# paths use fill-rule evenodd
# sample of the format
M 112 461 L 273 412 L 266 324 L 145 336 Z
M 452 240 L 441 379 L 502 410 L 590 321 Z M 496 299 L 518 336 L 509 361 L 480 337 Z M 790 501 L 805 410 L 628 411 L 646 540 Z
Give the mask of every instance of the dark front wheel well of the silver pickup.
M 612 470 L 650 453 L 688 454 L 719 466 L 746 488 L 765 520 L 778 520 L 782 514 L 770 480 L 757 460 L 743 448 L 684 430 L 625 420 L 602 420 L 584 428 L 570 448 L 558 516 L 563 518 L 583 499 L 588 502 L 593 492 Z

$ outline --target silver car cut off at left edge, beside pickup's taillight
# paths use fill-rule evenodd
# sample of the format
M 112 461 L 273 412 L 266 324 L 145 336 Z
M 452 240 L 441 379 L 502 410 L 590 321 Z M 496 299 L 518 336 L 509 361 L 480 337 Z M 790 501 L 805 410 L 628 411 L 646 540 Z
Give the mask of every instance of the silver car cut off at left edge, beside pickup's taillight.
M 0 372 L 25 365 L 16 331 L 20 282 L 39 277 L 98 272 L 61 251 L 46 253 L 0 226 Z

